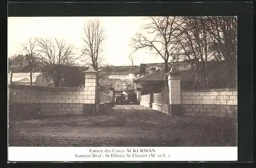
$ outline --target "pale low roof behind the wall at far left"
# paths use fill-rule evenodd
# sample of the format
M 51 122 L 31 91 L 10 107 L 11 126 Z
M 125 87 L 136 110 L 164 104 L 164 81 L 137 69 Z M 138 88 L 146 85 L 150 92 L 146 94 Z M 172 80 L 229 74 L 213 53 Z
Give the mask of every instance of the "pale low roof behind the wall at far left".
M 32 73 L 32 82 L 35 82 L 36 77 L 40 74 L 40 72 Z M 30 73 L 13 73 L 12 82 L 30 82 Z

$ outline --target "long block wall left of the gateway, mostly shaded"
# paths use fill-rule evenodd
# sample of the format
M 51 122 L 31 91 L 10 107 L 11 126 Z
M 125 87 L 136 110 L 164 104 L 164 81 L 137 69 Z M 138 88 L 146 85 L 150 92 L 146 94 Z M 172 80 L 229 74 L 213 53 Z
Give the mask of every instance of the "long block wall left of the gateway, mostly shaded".
M 89 79 L 90 80 L 90 79 Z M 95 89 L 52 88 L 11 85 L 9 118 L 35 118 L 41 116 L 90 114 L 95 103 Z

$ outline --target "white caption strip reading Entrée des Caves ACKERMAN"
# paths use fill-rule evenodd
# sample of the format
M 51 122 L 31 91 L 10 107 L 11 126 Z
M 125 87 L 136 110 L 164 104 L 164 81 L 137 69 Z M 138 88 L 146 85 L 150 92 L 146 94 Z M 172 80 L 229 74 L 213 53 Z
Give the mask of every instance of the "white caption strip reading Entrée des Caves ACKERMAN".
M 8 161 L 237 161 L 237 147 L 8 147 Z

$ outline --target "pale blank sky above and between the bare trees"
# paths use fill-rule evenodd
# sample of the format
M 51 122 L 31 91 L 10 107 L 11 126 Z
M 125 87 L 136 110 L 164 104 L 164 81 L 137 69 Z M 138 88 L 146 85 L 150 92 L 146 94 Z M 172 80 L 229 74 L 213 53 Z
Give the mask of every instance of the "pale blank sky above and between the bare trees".
M 102 44 L 104 64 L 130 66 L 128 56 L 133 53 L 130 41 L 135 33 L 148 22 L 145 17 L 8 17 L 8 57 L 24 54 L 22 46 L 30 37 L 56 37 L 74 46 L 81 54 L 84 36 L 83 27 L 90 19 L 98 18 L 105 29 L 106 39 Z M 163 62 L 160 56 L 143 49 L 133 54 L 134 65 Z

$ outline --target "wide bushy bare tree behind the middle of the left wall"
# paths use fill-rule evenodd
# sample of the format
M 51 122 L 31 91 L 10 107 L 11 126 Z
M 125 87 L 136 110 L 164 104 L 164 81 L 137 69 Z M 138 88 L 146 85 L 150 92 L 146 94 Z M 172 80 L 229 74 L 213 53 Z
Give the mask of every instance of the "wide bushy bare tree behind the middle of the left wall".
M 58 87 L 62 77 L 62 69 L 74 65 L 80 56 L 73 54 L 73 46 L 66 44 L 65 40 L 40 38 L 38 46 L 41 51 L 39 55 L 41 68 L 50 72 L 54 86 Z

